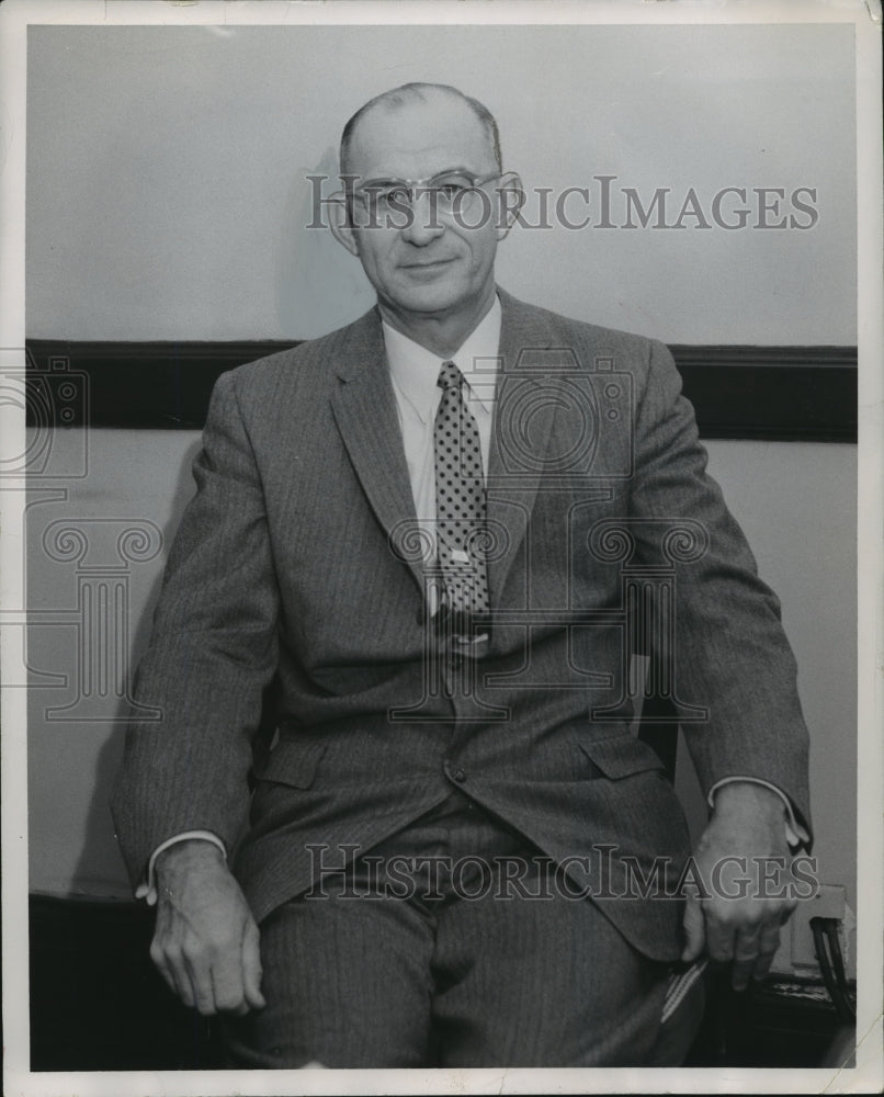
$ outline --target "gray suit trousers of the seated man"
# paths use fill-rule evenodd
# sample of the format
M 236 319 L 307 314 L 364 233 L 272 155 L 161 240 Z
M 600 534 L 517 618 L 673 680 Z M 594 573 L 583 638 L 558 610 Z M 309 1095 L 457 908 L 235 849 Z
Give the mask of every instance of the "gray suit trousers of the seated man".
M 268 1004 L 225 1022 L 231 1066 L 680 1062 L 683 1041 L 655 1052 L 668 965 L 460 790 L 344 856 L 324 850 L 310 891 L 262 923 Z

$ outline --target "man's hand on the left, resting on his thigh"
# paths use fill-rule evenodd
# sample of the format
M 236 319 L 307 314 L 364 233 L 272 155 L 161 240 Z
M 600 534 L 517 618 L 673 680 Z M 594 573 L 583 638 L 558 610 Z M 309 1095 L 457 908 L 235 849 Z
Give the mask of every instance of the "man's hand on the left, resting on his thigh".
M 261 1009 L 259 932 L 217 846 L 186 839 L 157 858 L 150 959 L 203 1016 Z

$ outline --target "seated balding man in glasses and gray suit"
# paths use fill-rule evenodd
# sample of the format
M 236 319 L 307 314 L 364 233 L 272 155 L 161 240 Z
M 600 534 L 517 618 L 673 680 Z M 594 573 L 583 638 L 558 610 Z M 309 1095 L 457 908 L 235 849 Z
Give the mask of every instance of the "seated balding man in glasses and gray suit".
M 672 964 L 745 986 L 794 905 L 703 886 L 807 837 L 778 603 L 666 349 L 496 286 L 521 184 L 481 104 L 381 95 L 341 171 L 377 307 L 219 378 L 139 668 L 162 721 L 114 814 L 151 955 L 238 1065 L 678 1062 Z M 636 576 L 714 803 L 687 906 L 630 887 L 691 863 L 628 726 Z

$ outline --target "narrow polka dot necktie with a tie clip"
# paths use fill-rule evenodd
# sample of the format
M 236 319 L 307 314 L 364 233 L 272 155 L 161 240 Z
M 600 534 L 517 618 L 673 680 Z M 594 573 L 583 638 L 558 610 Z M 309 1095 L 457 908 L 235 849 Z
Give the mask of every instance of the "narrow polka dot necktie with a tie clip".
M 439 372 L 442 399 L 435 415 L 435 508 L 439 567 L 453 632 L 466 635 L 469 617 L 488 612 L 483 555 L 485 480 L 476 420 L 463 399 L 454 362 Z

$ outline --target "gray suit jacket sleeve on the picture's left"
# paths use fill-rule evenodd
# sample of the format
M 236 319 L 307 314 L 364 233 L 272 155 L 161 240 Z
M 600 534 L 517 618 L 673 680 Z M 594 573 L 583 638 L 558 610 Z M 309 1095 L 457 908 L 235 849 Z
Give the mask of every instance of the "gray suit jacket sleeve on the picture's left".
M 136 709 L 111 804 L 133 886 L 173 835 L 209 830 L 228 849 L 235 844 L 251 739 L 276 669 L 279 592 L 236 378 L 224 374 L 213 392 L 193 466 L 196 495 L 133 685 Z

